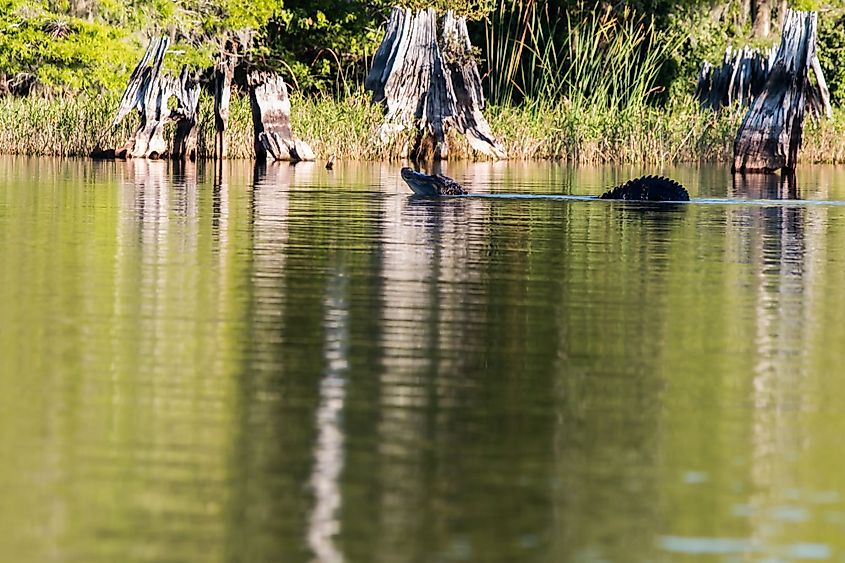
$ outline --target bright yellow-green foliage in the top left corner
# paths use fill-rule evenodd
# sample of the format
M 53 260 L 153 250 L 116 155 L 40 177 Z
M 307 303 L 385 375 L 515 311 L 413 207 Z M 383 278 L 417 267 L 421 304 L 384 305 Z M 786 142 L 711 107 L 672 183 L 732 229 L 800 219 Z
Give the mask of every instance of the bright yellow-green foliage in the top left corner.
M 75 3 L 74 3 L 75 4 Z M 0 93 L 117 91 L 148 34 L 174 38 L 166 65 L 207 68 L 231 38 L 249 48 L 282 0 L 0 0 Z

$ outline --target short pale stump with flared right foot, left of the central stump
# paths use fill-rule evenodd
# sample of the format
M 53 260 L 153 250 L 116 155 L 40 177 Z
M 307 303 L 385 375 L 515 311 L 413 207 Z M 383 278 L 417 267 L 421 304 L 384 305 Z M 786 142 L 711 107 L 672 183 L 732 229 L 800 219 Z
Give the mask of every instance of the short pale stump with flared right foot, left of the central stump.
M 266 160 L 314 160 L 314 151 L 297 139 L 290 122 L 290 98 L 278 74 L 252 71 L 247 75 L 249 104 L 255 130 L 255 155 Z

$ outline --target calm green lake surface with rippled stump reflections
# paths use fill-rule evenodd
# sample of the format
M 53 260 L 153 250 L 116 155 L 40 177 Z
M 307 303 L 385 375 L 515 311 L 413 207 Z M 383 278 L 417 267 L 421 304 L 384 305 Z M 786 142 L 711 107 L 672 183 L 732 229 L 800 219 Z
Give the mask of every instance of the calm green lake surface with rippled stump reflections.
M 0 159 L 0 560 L 845 559 L 845 169 L 399 166 Z

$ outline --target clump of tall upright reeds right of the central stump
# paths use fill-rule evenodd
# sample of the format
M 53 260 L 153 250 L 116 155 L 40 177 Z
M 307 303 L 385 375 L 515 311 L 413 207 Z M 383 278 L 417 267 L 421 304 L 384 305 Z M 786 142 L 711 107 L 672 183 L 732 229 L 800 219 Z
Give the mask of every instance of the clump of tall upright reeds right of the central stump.
M 680 45 L 627 10 L 593 10 L 575 21 L 563 7 L 538 0 L 499 0 L 485 36 L 493 103 L 584 111 L 642 108 Z

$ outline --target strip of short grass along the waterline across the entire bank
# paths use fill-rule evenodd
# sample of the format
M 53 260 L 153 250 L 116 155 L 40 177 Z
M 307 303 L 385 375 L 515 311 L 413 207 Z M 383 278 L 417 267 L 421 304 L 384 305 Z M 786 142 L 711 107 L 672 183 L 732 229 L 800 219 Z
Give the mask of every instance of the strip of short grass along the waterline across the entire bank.
M 111 127 L 117 97 L 79 96 L 67 99 L 5 97 L 0 99 L 0 153 L 42 156 L 85 156 L 99 143 L 122 145 L 135 121 Z M 399 159 L 407 139 L 382 145 L 377 136 L 382 111 L 361 93 L 343 100 L 327 97 L 292 99 L 294 132 L 319 159 L 334 154 L 342 160 Z M 715 114 L 698 109 L 689 98 L 665 108 L 620 114 L 601 108 L 566 104 L 545 107 L 489 107 L 493 131 L 514 160 L 562 159 L 576 164 L 659 164 L 728 162 L 743 110 Z M 134 117 L 134 116 L 133 116 Z M 137 119 L 137 118 L 136 118 Z M 234 97 L 228 130 L 232 158 L 252 158 L 249 100 Z M 210 156 L 214 120 L 211 100 L 200 108 L 199 153 Z M 450 141 L 453 158 L 473 158 L 459 137 Z M 800 160 L 803 163 L 845 162 L 845 110 L 832 120 L 808 119 Z

